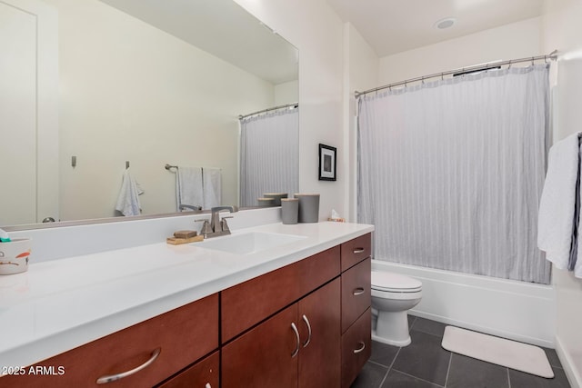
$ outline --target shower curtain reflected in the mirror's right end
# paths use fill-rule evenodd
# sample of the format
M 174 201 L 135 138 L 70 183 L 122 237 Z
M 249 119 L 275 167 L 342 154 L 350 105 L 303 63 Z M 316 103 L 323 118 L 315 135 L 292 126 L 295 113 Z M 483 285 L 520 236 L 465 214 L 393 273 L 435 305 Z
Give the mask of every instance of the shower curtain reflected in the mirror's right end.
M 246 117 L 240 126 L 240 205 L 256 206 L 264 193 L 297 193 L 298 109 Z

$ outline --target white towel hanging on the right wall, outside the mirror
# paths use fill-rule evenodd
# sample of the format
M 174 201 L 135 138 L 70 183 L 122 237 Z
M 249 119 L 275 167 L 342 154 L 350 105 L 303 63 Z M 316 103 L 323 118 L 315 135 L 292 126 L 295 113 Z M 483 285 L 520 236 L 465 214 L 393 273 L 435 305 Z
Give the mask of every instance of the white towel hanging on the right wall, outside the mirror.
M 559 269 L 567 269 L 575 225 L 578 178 L 578 134 L 554 144 L 549 150 L 546 182 L 539 204 L 537 247 Z M 582 245 L 582 244 L 579 244 Z M 578 249 L 578 257 L 580 257 Z M 582 260 L 577 260 L 582 265 Z M 582 266 L 579 267 L 582 275 Z

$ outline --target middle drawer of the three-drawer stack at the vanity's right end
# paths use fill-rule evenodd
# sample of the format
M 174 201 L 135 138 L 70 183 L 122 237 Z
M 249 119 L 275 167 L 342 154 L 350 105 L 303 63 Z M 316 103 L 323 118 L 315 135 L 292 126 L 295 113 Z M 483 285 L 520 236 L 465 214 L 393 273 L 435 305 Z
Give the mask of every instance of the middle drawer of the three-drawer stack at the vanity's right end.
M 342 274 L 342 333 L 371 305 L 371 271 L 368 257 Z

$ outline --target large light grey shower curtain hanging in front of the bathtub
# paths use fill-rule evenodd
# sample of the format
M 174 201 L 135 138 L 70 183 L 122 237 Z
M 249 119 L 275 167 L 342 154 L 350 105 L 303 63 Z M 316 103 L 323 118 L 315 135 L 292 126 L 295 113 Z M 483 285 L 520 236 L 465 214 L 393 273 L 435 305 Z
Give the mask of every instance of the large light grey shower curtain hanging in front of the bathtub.
M 358 109 L 358 221 L 376 225 L 376 259 L 549 283 L 548 65 L 365 95 Z

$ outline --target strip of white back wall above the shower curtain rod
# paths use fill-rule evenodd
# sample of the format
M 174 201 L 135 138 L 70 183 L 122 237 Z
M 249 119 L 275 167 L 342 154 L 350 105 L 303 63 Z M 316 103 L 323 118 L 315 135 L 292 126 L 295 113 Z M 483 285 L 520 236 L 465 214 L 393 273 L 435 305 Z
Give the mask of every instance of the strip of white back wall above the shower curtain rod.
M 497 60 L 544 55 L 541 19 L 527 19 L 477 34 L 380 58 L 379 85 Z

